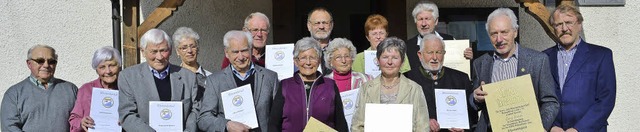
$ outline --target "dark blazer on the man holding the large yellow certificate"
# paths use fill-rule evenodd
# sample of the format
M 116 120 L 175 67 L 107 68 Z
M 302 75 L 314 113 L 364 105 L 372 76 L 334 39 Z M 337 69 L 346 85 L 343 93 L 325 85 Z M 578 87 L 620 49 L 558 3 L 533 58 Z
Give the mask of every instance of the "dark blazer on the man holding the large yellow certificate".
M 542 118 L 542 126 L 549 131 L 551 124 L 556 118 L 558 113 L 558 99 L 556 97 L 551 71 L 549 70 L 548 57 L 539 51 L 535 51 L 529 48 L 522 47 L 517 44 L 518 48 L 518 73 L 517 76 L 531 74 L 531 81 L 533 83 L 533 90 L 536 94 L 538 101 L 538 108 L 540 109 L 540 117 Z M 491 83 L 491 74 L 493 72 L 493 53 L 486 53 L 475 61 L 473 61 L 473 71 L 475 71 L 476 77 L 473 78 L 473 87 L 478 88 L 480 82 L 484 81 L 486 84 Z M 476 132 L 487 131 L 489 126 L 489 116 L 487 116 L 486 104 L 476 103 L 473 99 L 473 95 L 469 96 L 469 102 L 476 110 L 482 110 Z

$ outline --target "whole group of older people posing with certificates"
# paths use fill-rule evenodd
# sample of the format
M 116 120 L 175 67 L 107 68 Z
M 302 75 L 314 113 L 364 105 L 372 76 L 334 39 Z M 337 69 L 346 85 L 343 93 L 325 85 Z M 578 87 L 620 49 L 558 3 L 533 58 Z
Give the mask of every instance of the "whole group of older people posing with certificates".
M 81 86 L 54 77 L 58 56 L 54 48 L 36 45 L 28 50 L 31 75 L 10 87 L 1 108 L 2 131 L 87 131 L 93 88 L 119 90 L 118 124 L 125 131 L 155 131 L 149 126 L 150 101 L 182 102 L 185 131 L 303 131 L 311 117 L 337 131 L 364 131 L 366 104 L 412 104 L 413 131 L 492 131 L 482 86 L 530 74 L 544 129 L 547 131 L 606 131 L 615 104 L 612 51 L 580 37 L 583 18 L 571 5 L 560 5 L 549 23 L 560 42 L 543 52 L 515 41 L 517 18 L 498 8 L 486 28 L 495 48 L 473 59 L 474 76 L 443 66 L 443 40 L 451 35 L 434 30 L 438 7 L 420 2 L 412 11 L 419 34 L 406 42 L 388 37 L 388 22 L 374 14 L 365 22 L 365 37 L 376 51 L 381 74 L 363 73 L 364 55 L 345 38 L 330 38 L 331 13 L 312 10 L 307 19 L 310 37 L 295 43 L 297 70 L 278 80 L 266 69 L 265 45 L 269 18 L 251 13 L 242 31 L 223 38 L 221 70 L 209 72 L 197 62 L 200 36 L 191 28 L 178 28 L 172 38 L 151 29 L 140 38 L 146 62 L 122 70 L 120 53 L 112 47 L 95 51 L 92 68 L 98 78 Z M 171 41 L 173 40 L 173 41 Z M 180 65 L 169 63 L 175 51 Z M 318 71 L 318 69 L 322 69 Z M 257 128 L 225 118 L 221 93 L 250 84 Z M 352 119 L 346 119 L 340 93 L 360 89 Z M 436 114 L 435 89 L 465 90 L 470 129 L 441 129 Z M 480 111 L 480 112 L 479 112 Z M 480 115 L 478 115 L 480 114 Z M 347 125 L 351 120 L 351 125 Z

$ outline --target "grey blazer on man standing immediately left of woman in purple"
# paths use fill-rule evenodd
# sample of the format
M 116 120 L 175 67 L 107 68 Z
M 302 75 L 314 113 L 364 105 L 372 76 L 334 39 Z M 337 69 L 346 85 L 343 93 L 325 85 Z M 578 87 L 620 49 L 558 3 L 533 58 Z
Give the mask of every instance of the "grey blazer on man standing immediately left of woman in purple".
M 278 82 L 278 74 L 269 69 L 254 65 L 254 92 L 253 104 L 256 108 L 256 116 L 258 118 L 257 129 L 251 131 L 266 132 L 269 125 L 269 112 L 271 110 L 271 101 L 275 95 L 275 88 L 280 84 Z M 222 71 L 214 72 L 207 77 L 207 87 L 201 103 L 202 111 L 198 119 L 198 128 L 202 131 L 226 131 L 227 122 L 224 118 L 224 108 L 220 94 L 224 91 L 239 87 L 236 85 L 235 75 L 231 67 L 224 68 Z

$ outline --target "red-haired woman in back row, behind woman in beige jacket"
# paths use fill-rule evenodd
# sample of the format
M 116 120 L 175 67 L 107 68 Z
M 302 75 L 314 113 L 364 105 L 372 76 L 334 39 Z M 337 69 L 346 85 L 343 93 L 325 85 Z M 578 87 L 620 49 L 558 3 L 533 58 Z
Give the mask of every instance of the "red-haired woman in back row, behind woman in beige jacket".
M 382 15 L 373 14 L 367 17 L 367 21 L 364 23 L 364 33 L 365 37 L 369 41 L 369 49 L 367 50 L 376 50 L 378 44 L 385 38 L 387 38 L 387 26 L 389 22 Z M 407 58 L 405 58 L 404 62 L 408 62 Z M 358 53 L 356 55 L 355 60 L 353 61 L 353 71 L 364 73 L 364 52 Z M 402 67 L 400 67 L 400 72 L 405 73 L 411 70 L 411 66 L 409 63 L 403 63 Z

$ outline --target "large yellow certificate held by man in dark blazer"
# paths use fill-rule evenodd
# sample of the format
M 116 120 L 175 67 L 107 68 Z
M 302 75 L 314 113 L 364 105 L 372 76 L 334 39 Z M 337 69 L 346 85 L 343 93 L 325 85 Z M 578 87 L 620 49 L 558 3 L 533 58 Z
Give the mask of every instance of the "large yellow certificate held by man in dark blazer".
M 531 75 L 482 86 L 493 131 L 543 132 Z

